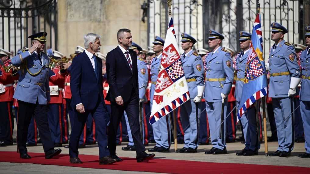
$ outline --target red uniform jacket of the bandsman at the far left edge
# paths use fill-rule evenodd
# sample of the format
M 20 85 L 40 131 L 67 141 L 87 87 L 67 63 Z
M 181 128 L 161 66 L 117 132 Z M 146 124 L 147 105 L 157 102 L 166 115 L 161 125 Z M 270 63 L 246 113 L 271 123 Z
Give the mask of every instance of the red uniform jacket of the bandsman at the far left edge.
M 10 73 L 5 72 L 1 65 L 0 70 L 0 83 L 3 85 L 11 85 L 10 87 L 5 87 L 5 92 L 0 94 L 0 102 L 13 101 L 14 87 L 12 84 L 15 83 L 14 80 L 19 79 L 19 75 L 12 76 Z

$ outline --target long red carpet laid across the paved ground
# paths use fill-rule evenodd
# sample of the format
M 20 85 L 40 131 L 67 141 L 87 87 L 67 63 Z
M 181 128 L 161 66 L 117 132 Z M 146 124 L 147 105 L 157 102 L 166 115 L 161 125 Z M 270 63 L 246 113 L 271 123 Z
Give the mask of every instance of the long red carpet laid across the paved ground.
M 1 162 L 34 163 L 44 165 L 71 166 L 82 168 L 102 168 L 112 170 L 160 172 L 160 173 L 309 173 L 310 168 L 271 166 L 240 163 L 210 163 L 198 161 L 152 159 L 148 162 L 137 163 L 134 158 L 123 157 L 122 162 L 112 165 L 99 165 L 96 155 L 79 155 L 82 164 L 69 163 L 69 155 L 58 155 L 53 159 L 45 159 L 43 153 L 29 153 L 31 159 L 20 159 L 17 152 L 0 151 Z

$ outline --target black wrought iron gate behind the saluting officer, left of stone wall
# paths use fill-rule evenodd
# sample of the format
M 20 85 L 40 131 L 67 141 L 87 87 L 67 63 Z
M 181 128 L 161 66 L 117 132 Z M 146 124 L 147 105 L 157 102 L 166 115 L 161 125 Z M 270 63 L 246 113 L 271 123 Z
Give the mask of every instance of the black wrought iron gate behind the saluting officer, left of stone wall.
M 47 32 L 45 49 L 57 49 L 57 0 L 0 0 L 0 40 L 16 54 L 30 46 L 29 35 Z

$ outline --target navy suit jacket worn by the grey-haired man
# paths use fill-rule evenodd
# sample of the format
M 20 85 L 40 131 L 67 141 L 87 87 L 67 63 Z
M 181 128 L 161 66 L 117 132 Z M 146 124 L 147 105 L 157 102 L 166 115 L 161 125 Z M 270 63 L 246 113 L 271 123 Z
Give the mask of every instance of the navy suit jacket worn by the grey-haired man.
M 103 100 L 102 62 L 99 57 L 96 57 L 96 61 L 98 79 L 85 51 L 72 61 L 70 89 L 73 108 L 82 103 L 85 109 L 94 109 L 98 97 Z

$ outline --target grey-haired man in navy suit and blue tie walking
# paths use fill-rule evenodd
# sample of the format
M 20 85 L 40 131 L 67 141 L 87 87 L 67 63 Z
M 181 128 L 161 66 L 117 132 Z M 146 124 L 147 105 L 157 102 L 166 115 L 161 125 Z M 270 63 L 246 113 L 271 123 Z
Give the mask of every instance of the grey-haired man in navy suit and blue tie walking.
M 75 109 L 74 126 L 69 142 L 70 163 L 82 163 L 78 158 L 78 143 L 87 116 L 95 120 L 99 146 L 99 164 L 111 164 L 117 161 L 110 156 L 106 134 L 107 109 L 103 101 L 102 62 L 95 56 L 100 51 L 100 36 L 88 33 L 84 36 L 85 51 L 73 59 L 71 65 L 72 91 L 71 105 Z

